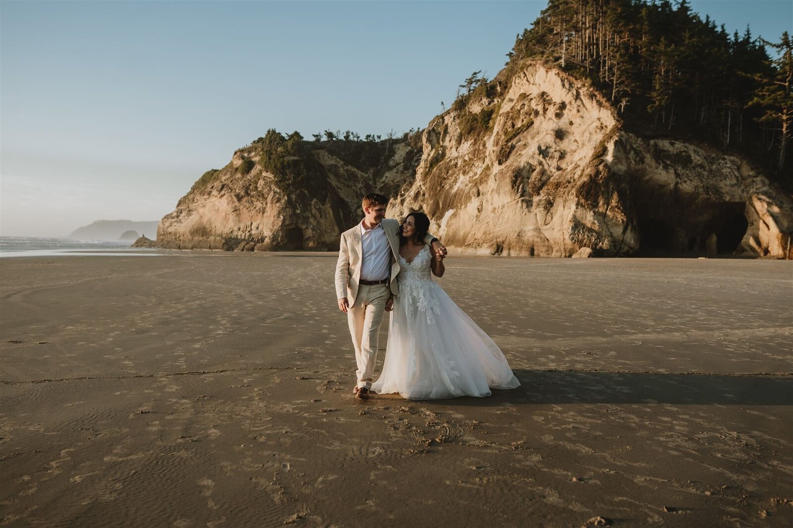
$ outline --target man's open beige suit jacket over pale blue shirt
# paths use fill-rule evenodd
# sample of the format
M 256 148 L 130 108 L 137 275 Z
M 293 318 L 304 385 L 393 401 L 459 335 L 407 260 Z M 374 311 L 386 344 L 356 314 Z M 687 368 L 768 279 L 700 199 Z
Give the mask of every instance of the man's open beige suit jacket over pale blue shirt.
M 399 229 L 400 224 L 393 218 L 384 218 L 381 222 L 385 236 L 389 240 L 391 248 L 391 293 L 399 294 L 397 285 L 397 275 L 399 274 Z M 424 237 L 425 243 L 432 243 L 435 236 L 427 233 Z M 358 297 L 358 281 L 361 280 L 361 265 L 363 262 L 363 245 L 361 241 L 361 224 L 355 224 L 354 228 L 347 229 L 342 233 L 341 243 L 339 243 L 339 261 L 336 262 L 336 299 L 347 297 L 347 302 L 352 307 L 355 304 L 355 297 Z

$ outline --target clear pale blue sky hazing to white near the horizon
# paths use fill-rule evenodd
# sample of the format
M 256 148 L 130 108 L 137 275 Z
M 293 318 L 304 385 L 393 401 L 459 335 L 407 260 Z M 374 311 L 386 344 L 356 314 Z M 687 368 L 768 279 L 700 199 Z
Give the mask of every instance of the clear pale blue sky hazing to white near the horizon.
M 693 0 L 793 33 L 790 0 Z M 0 235 L 159 220 L 267 128 L 424 127 L 546 2 L 0 1 Z

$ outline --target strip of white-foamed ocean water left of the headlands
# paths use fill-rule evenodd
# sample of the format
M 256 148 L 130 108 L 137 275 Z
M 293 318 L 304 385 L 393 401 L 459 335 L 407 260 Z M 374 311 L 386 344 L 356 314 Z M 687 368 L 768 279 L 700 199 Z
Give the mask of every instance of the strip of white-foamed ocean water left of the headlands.
M 2 257 L 49 257 L 86 255 L 156 255 L 154 249 L 129 247 L 132 242 L 121 240 L 43 239 L 32 236 L 0 236 Z

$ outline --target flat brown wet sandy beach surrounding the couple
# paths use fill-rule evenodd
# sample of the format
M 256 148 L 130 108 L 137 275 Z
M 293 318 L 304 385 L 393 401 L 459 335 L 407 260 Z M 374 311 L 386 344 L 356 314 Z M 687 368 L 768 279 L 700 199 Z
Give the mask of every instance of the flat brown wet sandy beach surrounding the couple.
M 362 402 L 335 259 L 0 259 L 0 526 L 793 525 L 791 262 L 452 256 L 522 386 Z

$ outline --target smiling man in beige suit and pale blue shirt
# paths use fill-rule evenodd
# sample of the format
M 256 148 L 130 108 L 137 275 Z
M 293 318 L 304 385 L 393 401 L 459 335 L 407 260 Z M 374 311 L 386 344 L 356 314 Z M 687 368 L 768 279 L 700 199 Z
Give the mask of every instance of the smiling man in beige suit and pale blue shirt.
M 397 220 L 385 218 L 389 199 L 369 193 L 362 200 L 364 219 L 342 233 L 339 262 L 336 263 L 336 298 L 339 310 L 347 313 L 350 334 L 355 348 L 353 389 L 356 398 L 367 400 L 372 386 L 377 340 L 383 312 L 393 308 L 393 296 L 399 294 L 399 231 Z M 427 234 L 425 243 L 432 245 L 438 258 L 446 256 L 446 247 Z

